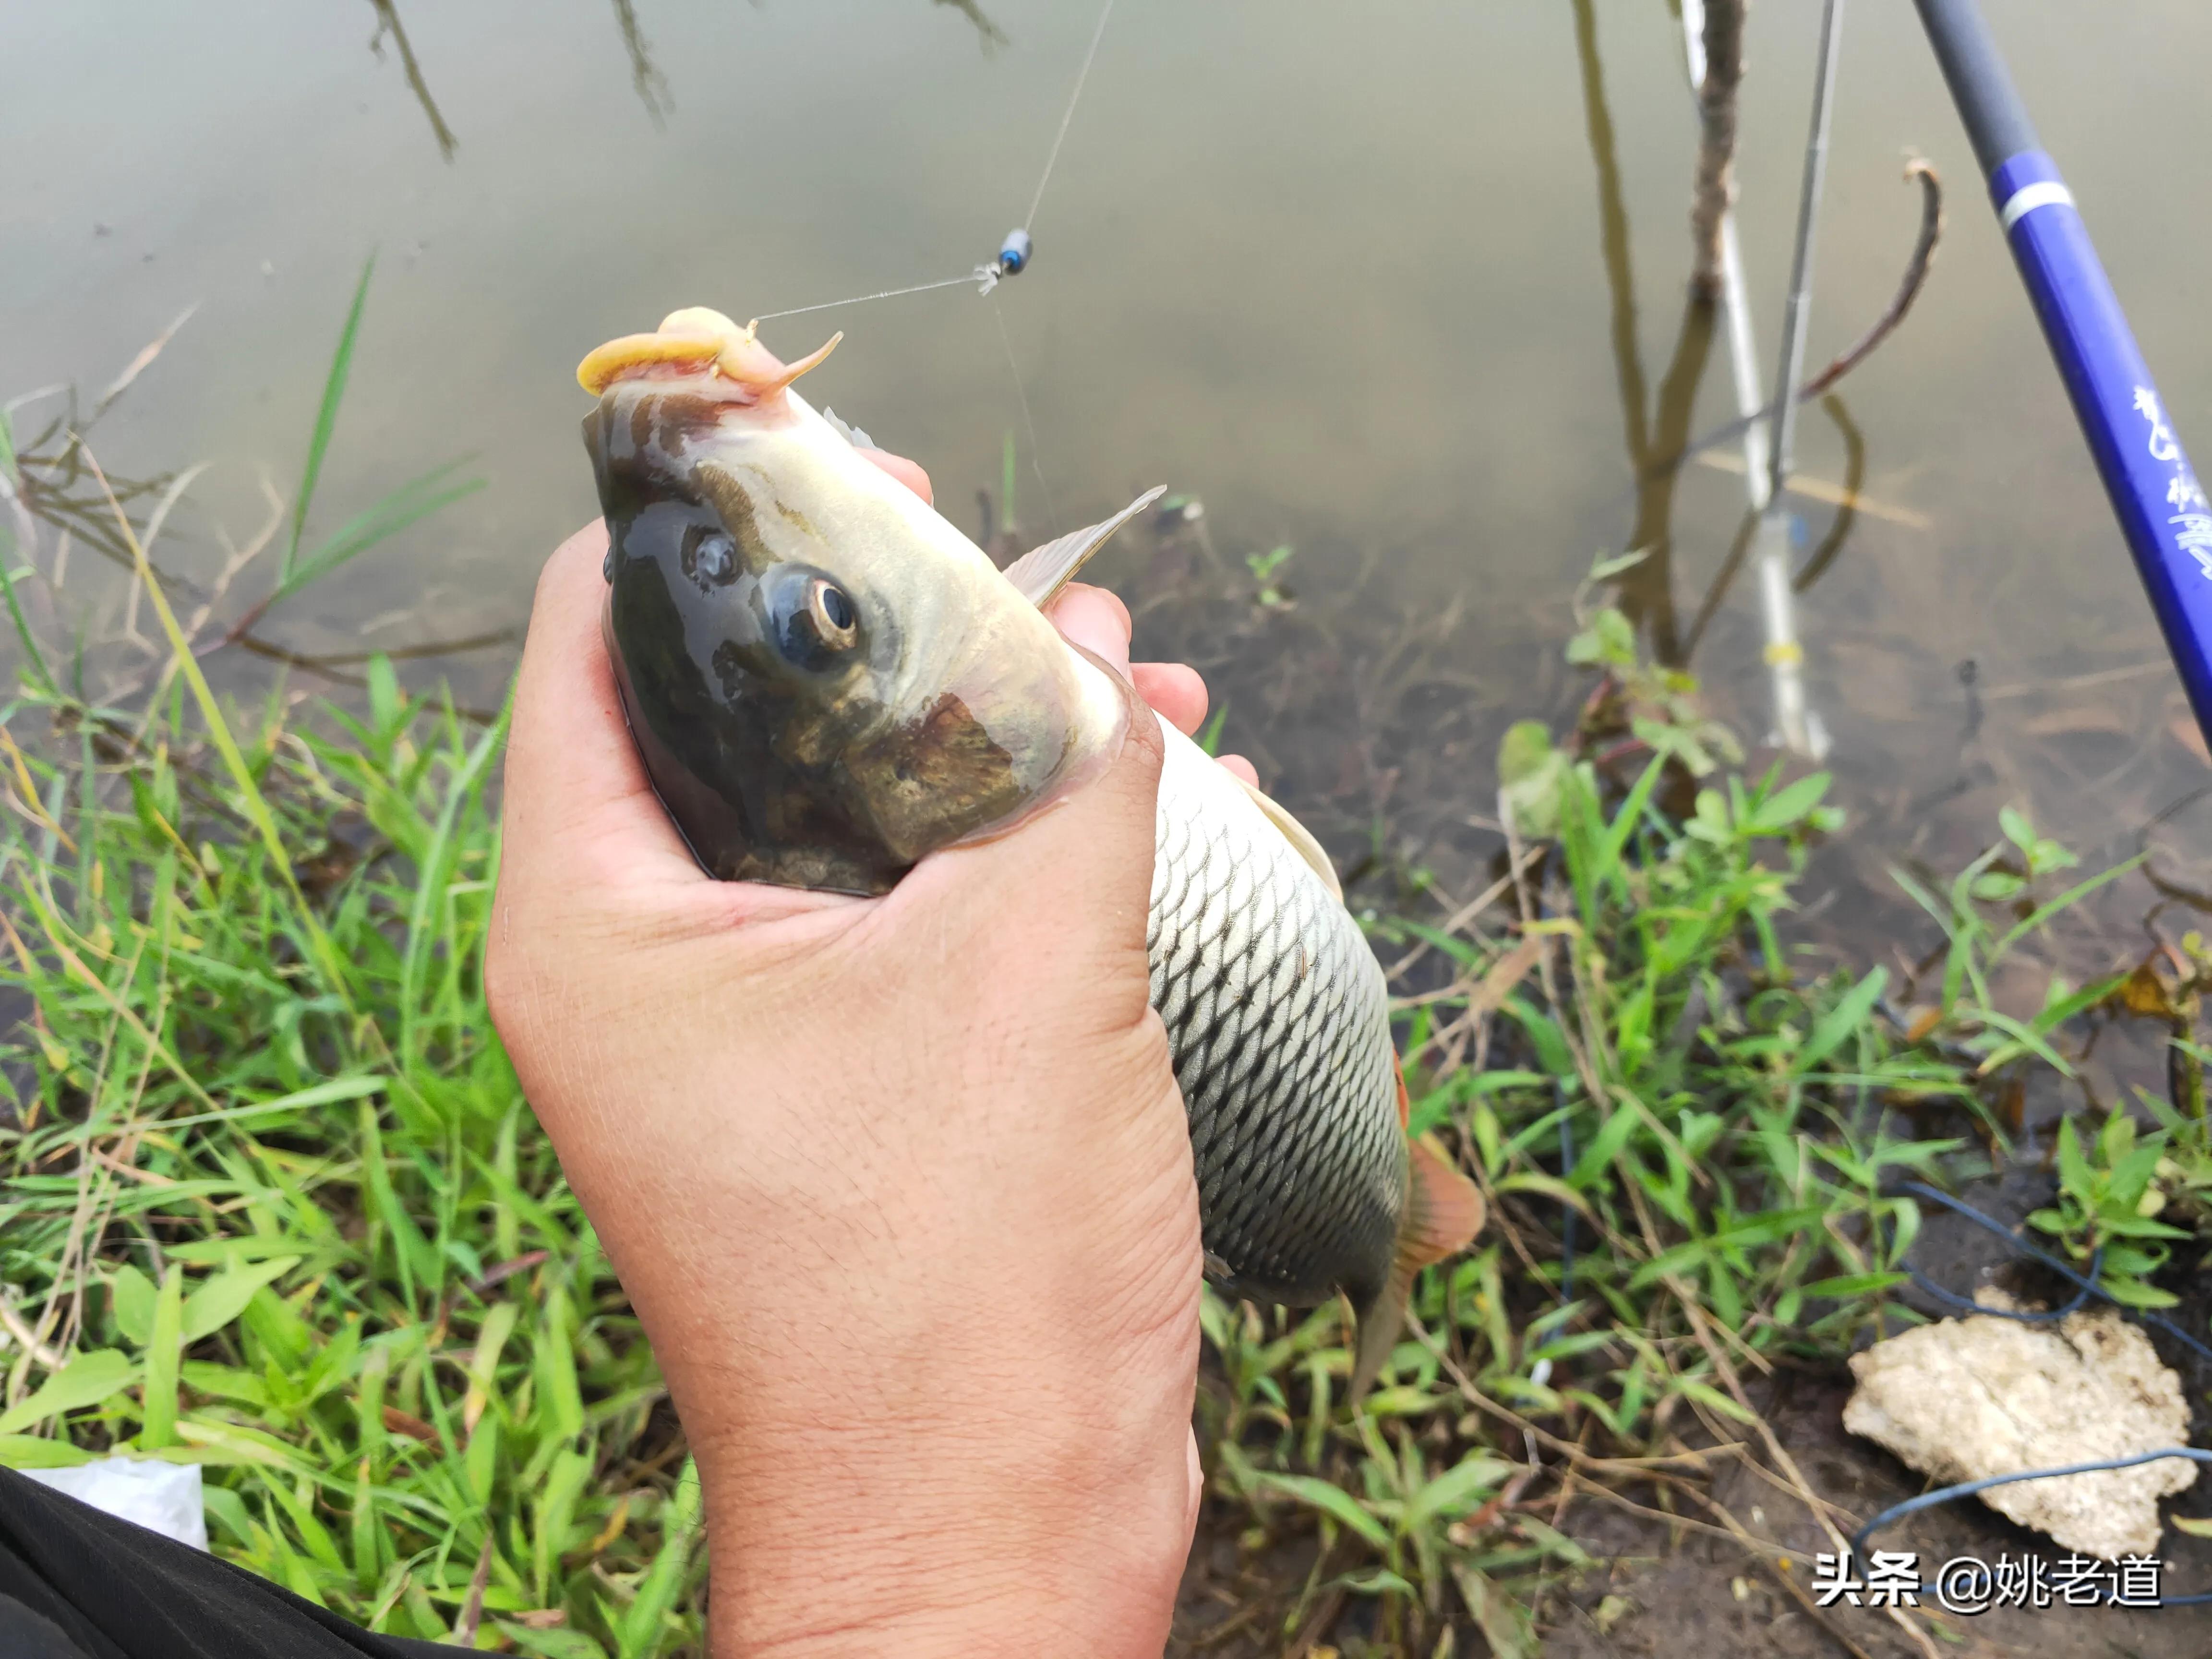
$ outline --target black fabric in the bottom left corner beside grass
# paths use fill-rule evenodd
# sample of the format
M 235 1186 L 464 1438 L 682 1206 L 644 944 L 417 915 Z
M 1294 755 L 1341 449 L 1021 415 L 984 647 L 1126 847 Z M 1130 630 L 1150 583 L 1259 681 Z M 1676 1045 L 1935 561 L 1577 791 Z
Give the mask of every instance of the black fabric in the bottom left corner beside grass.
M 431 1659 L 0 1469 L 0 1659 Z

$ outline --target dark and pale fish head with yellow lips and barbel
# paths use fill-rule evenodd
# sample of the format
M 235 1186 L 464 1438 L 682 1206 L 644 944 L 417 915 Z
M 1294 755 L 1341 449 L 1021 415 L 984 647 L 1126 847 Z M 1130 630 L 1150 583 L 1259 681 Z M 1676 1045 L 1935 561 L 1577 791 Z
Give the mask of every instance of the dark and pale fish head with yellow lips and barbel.
M 1110 752 L 1124 701 L 790 392 L 827 349 L 677 312 L 584 361 L 584 442 L 624 708 L 699 863 L 880 894 Z

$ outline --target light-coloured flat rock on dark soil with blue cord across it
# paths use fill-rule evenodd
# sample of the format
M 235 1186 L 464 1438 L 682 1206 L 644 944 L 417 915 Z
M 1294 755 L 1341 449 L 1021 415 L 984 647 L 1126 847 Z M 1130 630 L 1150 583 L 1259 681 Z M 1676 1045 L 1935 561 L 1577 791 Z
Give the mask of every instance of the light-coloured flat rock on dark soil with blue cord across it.
M 2022 1469 L 2183 1447 L 2181 1378 L 2150 1338 L 2106 1310 L 2057 1329 L 2011 1318 L 1947 1318 L 1851 1356 L 1858 1387 L 1843 1427 L 1949 1486 Z M 2197 1480 L 2168 1458 L 1980 1493 L 2006 1520 L 2070 1551 L 2119 1559 L 2159 1548 L 2159 1500 Z

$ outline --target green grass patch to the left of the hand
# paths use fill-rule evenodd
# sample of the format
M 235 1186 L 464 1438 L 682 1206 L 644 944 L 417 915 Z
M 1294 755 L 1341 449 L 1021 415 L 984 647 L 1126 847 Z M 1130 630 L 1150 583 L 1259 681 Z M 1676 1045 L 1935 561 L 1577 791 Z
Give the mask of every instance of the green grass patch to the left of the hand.
M 73 1358 L 7 1354 L 0 1455 L 201 1462 L 223 1555 L 374 1628 L 484 1559 L 522 1650 L 681 1648 L 681 1442 L 484 1013 L 500 728 L 389 668 L 321 732 L 192 712 L 9 710 L 75 754 L 15 757 L 0 1281 Z

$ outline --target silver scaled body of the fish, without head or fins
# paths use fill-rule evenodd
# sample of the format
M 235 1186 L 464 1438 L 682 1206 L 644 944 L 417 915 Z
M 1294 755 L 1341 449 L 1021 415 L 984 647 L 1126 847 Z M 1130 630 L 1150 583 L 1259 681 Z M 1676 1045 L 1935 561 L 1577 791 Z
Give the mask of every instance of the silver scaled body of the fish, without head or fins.
M 1407 1201 L 1383 969 L 1243 787 L 1166 739 L 1146 951 L 1208 1272 L 1252 1301 L 1365 1307 Z

